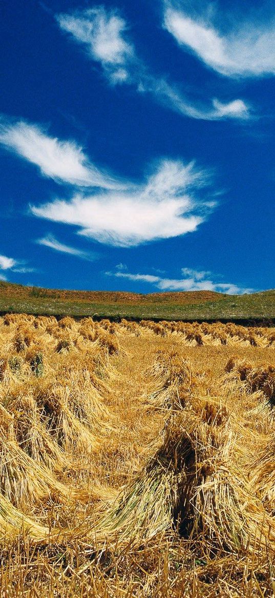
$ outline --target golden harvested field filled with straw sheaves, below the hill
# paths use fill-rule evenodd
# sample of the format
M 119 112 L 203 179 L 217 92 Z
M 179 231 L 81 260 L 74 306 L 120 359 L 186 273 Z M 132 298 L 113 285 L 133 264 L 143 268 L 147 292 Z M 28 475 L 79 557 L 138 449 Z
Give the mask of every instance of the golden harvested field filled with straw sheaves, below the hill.
M 0 319 L 1 597 L 274 596 L 275 329 Z

